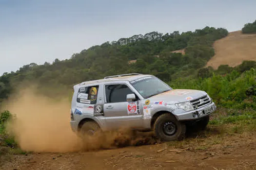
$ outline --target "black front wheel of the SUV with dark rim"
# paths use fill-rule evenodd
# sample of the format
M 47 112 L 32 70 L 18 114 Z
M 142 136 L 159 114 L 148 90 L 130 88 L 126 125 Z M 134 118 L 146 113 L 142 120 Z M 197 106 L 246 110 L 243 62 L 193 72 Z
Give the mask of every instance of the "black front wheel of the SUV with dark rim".
M 172 114 L 165 113 L 157 118 L 154 132 L 163 141 L 182 140 L 185 136 L 186 125 L 177 121 Z

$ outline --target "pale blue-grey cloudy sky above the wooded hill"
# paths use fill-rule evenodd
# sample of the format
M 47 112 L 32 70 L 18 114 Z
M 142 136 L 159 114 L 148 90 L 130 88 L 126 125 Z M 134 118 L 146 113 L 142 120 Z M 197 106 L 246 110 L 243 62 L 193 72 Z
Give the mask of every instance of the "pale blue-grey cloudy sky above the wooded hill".
M 0 75 L 152 31 L 240 30 L 256 0 L 0 0 Z

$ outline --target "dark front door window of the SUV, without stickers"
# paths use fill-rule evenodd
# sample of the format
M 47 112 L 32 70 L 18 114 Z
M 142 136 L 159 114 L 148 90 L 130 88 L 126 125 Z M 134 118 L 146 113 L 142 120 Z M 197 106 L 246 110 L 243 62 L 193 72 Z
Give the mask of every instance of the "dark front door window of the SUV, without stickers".
M 127 85 L 105 85 L 107 102 L 126 102 L 127 94 L 133 91 Z

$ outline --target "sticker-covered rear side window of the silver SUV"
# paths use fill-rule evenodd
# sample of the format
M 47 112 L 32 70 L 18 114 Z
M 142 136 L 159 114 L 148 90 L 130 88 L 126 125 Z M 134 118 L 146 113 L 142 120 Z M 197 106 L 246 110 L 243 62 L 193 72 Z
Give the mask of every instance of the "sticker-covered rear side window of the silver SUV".
M 77 102 L 96 104 L 98 96 L 98 85 L 79 88 Z

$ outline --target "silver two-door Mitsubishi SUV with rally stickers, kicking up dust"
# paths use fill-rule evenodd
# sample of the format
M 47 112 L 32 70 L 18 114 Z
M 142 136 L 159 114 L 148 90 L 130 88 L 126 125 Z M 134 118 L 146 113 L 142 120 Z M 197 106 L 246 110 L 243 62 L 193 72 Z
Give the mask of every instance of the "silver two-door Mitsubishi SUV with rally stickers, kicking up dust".
M 153 75 L 123 74 L 74 86 L 71 127 L 79 135 L 128 127 L 171 141 L 188 123 L 205 128 L 216 105 L 204 91 L 173 89 Z

